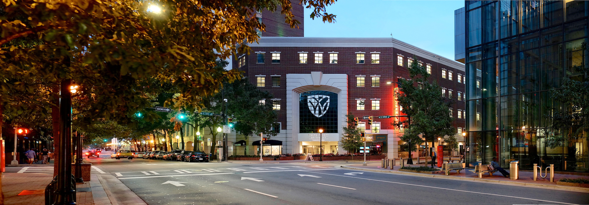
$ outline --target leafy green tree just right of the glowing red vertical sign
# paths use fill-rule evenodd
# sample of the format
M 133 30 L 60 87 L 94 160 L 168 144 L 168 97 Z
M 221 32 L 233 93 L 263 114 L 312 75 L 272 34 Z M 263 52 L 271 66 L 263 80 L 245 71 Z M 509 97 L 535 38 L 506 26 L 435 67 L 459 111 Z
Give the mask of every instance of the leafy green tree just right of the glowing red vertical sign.
M 442 98 L 442 88 L 436 82 L 428 81 L 430 74 L 418 64 L 418 59 L 413 61 L 408 70 L 410 78 L 399 79 L 401 92 L 396 95 L 403 108 L 402 113 L 411 116 L 411 125 L 409 120 L 393 124 L 405 127 L 403 135 L 399 137 L 401 140 L 407 142 L 411 139 L 412 144 L 429 140 L 434 146 L 434 139 L 455 134 L 449 110 L 451 104 Z M 418 83 L 421 87 L 415 86 Z

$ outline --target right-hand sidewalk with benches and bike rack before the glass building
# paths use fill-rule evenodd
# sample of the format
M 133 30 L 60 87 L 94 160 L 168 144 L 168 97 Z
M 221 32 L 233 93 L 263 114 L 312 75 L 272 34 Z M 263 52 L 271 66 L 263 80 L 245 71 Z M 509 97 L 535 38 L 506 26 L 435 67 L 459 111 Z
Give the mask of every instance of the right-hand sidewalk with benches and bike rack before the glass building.
M 569 191 L 580 191 L 589 193 L 589 188 L 584 187 L 575 187 L 575 186 L 563 186 L 557 185 L 556 182 L 561 178 L 588 178 L 587 176 L 578 176 L 578 175 L 570 175 L 570 174 L 554 174 L 554 182 L 550 182 L 550 173 L 546 178 L 540 177 L 538 174 L 537 181 L 534 181 L 534 173 L 531 171 L 519 171 L 519 179 L 518 180 L 510 180 L 509 178 L 505 178 L 502 176 L 499 171 L 495 172 L 493 176 L 489 176 L 488 173 L 483 174 L 482 178 L 478 178 L 478 174 L 473 173 L 471 168 L 465 168 L 464 170 L 460 171 L 460 174 L 456 174 L 456 171 L 450 171 L 450 174 L 446 176 L 445 173 L 436 173 L 436 174 L 422 174 L 422 173 L 412 173 L 406 171 L 398 171 L 401 166 L 397 163 L 396 166 L 383 168 L 380 167 L 379 163 L 367 163 L 367 166 L 362 166 L 362 164 L 351 164 L 348 166 L 341 166 L 343 169 L 348 170 L 361 170 L 361 171 L 377 171 L 381 173 L 391 173 L 391 174 L 401 174 L 401 175 L 409 175 L 409 176 L 419 176 L 419 177 L 432 177 L 432 178 L 445 178 L 450 180 L 464 180 L 464 181 L 477 181 L 481 183 L 495 183 L 495 184 L 507 184 L 512 186 L 531 186 L 531 187 L 541 187 L 545 189 L 558 189 L 558 190 L 569 190 Z M 415 164 L 415 165 L 405 165 L 411 167 L 419 167 L 424 166 L 423 164 Z M 434 166 L 434 168 L 438 168 Z M 509 170 L 507 170 L 509 171 Z

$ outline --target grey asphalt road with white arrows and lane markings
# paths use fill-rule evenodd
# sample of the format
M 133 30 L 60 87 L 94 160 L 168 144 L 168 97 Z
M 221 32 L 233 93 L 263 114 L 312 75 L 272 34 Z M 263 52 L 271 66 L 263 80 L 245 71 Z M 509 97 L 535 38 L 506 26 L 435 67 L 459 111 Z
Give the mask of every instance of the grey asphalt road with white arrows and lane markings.
M 148 204 L 589 204 L 589 194 L 342 170 L 348 163 L 90 158 Z

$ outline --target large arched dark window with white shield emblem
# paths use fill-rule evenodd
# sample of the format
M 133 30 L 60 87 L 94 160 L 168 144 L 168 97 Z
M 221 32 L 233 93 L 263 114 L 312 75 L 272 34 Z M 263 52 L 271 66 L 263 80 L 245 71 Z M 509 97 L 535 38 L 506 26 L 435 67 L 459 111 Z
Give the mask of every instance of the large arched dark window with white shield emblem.
M 337 133 L 337 93 L 308 91 L 299 95 L 299 133 Z

